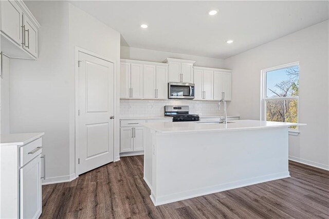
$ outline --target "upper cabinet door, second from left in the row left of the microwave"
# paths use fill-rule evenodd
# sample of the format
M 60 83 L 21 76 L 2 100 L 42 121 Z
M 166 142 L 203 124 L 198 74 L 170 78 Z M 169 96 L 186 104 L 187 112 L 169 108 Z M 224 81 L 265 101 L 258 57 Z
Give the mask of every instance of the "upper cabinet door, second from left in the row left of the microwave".
M 132 98 L 143 98 L 143 65 L 131 64 Z

